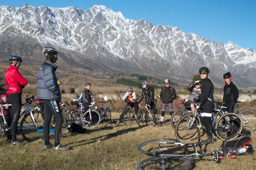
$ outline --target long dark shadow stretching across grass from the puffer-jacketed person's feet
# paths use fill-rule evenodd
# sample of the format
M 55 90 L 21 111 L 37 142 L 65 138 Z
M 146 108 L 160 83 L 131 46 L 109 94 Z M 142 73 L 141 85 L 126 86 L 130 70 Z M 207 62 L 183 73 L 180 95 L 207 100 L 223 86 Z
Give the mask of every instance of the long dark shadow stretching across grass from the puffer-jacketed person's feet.
M 112 137 L 117 137 L 118 135 L 122 135 L 122 134 L 125 134 L 125 133 L 128 133 L 130 131 L 136 131 L 137 129 L 139 129 L 139 127 L 132 127 L 132 128 L 129 128 L 129 129 L 123 129 L 123 130 L 119 130 L 119 131 L 116 131 L 115 133 L 110 133 L 108 135 L 103 135 L 103 136 L 100 136 L 100 137 L 96 137 L 96 138 L 92 138 L 92 139 L 88 139 L 88 140 L 82 140 L 82 141 L 77 141 L 77 142 L 72 142 L 72 143 L 68 143 L 66 145 L 74 145 L 74 144 L 78 144 L 78 145 L 74 145 L 72 146 L 72 148 L 74 147 L 79 147 L 79 146 L 82 146 L 82 145 L 88 145 L 88 144 L 91 144 L 91 143 L 95 143 L 97 141 L 105 141 L 105 140 L 108 140 L 108 139 L 111 139 Z M 103 139 L 101 139 L 103 138 Z M 98 140 L 99 139 L 99 140 Z M 88 141 L 88 142 L 87 142 Z M 86 143 L 84 143 L 86 142 Z M 81 144 L 80 144 L 81 143 Z M 65 146 L 66 146 L 65 145 Z

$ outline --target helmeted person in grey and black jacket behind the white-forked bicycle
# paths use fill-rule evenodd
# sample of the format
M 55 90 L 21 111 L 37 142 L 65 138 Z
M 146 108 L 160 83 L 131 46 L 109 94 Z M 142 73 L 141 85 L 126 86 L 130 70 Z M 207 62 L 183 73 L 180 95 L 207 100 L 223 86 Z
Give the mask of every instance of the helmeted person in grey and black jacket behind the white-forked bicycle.
M 84 85 L 84 91 L 82 91 L 82 105 L 84 106 L 84 112 L 89 109 L 89 106 L 93 102 L 92 92 L 90 91 L 91 84 L 86 83 Z

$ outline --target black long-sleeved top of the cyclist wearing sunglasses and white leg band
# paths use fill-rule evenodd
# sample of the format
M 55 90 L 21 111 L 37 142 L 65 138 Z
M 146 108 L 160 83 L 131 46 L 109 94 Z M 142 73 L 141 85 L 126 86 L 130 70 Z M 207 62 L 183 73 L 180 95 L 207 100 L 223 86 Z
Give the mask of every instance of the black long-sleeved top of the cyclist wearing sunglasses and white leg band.
M 204 104 L 214 105 L 214 85 L 212 81 L 209 78 L 202 79 L 201 81 L 202 95 L 200 98 L 200 107 L 204 106 Z

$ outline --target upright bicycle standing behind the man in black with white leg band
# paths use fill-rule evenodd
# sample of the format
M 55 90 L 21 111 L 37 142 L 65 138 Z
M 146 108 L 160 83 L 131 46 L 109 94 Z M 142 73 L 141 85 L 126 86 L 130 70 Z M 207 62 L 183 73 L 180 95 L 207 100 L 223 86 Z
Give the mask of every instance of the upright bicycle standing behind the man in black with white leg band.
M 231 135 L 241 133 L 243 128 L 243 123 L 240 117 L 234 113 L 225 114 L 222 111 L 221 106 L 223 102 L 214 102 L 216 108 L 212 111 L 215 115 L 212 117 L 212 134 L 216 134 L 219 139 L 225 140 L 226 137 Z M 175 135 L 179 140 L 191 140 L 197 135 L 197 131 L 192 131 L 192 126 L 201 125 L 199 118 L 199 103 L 193 102 L 195 107 L 195 112 L 193 114 L 188 114 L 183 116 L 177 124 L 175 129 Z M 203 129 L 204 130 L 204 129 Z M 205 130 L 204 130 L 205 131 Z M 184 134 L 182 134 L 184 132 Z M 215 137 L 215 136 L 214 136 Z M 232 139 L 235 139 L 237 135 L 234 135 Z

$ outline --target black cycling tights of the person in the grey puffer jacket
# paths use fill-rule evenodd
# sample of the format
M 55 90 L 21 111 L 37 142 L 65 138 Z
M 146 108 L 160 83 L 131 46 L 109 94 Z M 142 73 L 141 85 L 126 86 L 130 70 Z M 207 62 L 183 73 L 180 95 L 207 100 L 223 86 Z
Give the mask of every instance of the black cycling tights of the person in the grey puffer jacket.
M 44 102 L 44 144 L 49 145 L 49 126 L 52 115 L 56 119 L 54 128 L 54 147 L 60 144 L 60 133 L 63 122 L 63 117 L 60 109 L 59 101 L 56 100 L 43 100 Z

